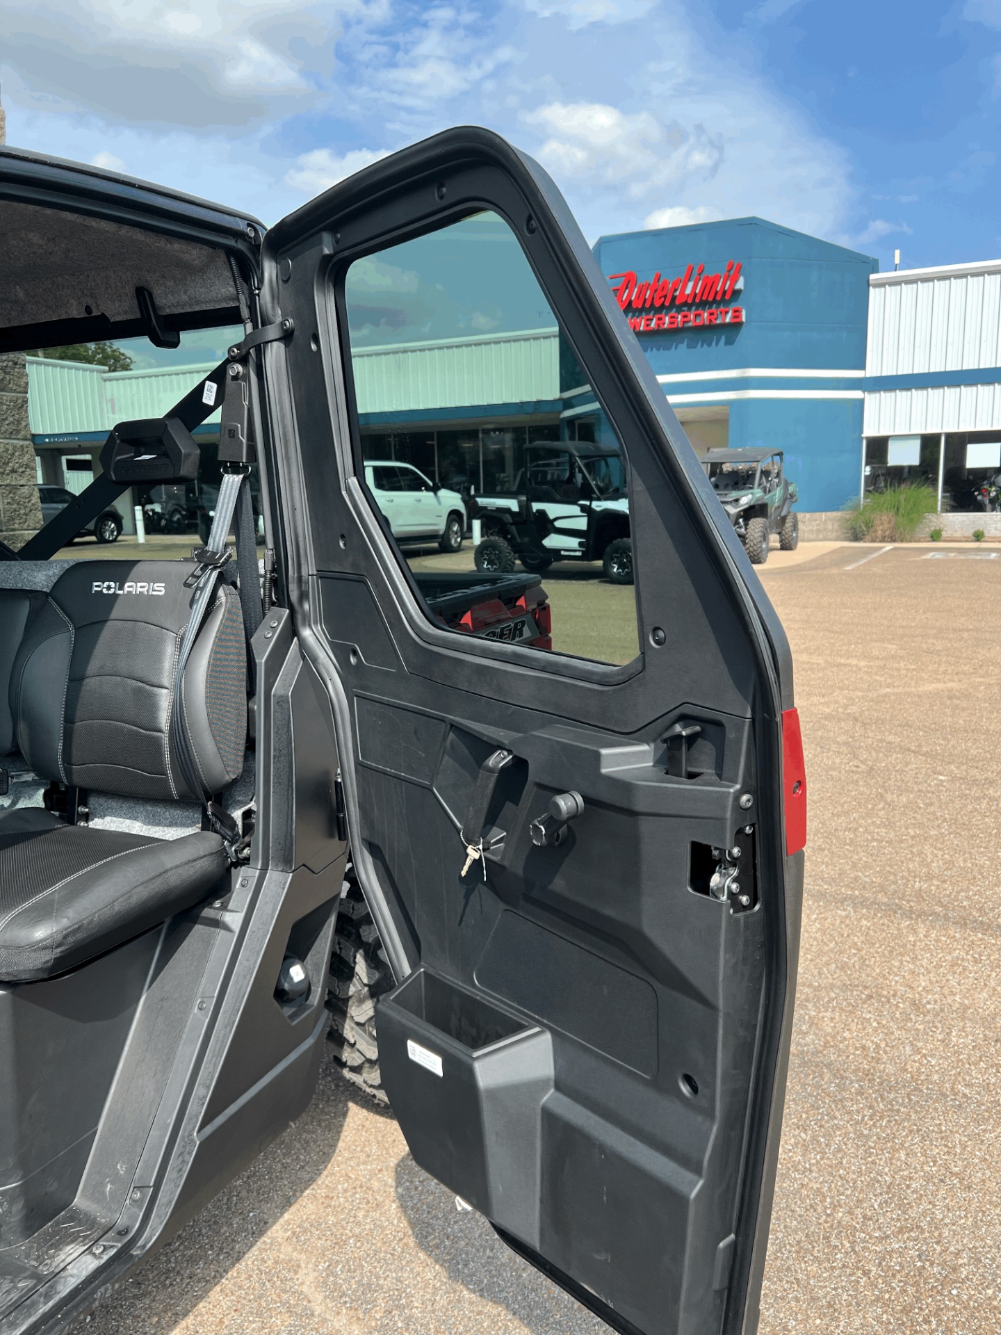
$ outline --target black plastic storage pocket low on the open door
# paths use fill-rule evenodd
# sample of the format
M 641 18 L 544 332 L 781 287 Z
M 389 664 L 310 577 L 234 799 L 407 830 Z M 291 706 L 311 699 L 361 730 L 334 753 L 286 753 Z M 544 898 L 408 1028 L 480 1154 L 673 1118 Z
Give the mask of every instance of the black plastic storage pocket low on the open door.
M 420 968 L 379 1003 L 379 1065 L 415 1161 L 538 1247 L 546 1029 Z

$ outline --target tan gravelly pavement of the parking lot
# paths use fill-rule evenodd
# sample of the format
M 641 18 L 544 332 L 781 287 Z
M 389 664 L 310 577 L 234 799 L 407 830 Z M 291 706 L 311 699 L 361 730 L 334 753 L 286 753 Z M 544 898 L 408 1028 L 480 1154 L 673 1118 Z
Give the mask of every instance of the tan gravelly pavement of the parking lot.
M 862 562 L 862 563 L 860 563 Z M 810 784 L 762 1335 L 1001 1328 L 1001 554 L 834 543 L 761 571 Z M 598 1335 L 324 1075 L 80 1330 Z

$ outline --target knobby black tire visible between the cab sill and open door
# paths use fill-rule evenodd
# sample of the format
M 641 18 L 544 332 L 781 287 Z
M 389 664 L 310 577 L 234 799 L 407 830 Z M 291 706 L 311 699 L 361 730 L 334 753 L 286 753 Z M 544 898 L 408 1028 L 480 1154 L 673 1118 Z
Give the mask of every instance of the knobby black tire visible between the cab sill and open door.
M 388 1099 L 379 1071 L 375 999 L 394 985 L 379 932 L 348 865 L 330 961 L 327 1037 L 344 1079 L 382 1104 Z

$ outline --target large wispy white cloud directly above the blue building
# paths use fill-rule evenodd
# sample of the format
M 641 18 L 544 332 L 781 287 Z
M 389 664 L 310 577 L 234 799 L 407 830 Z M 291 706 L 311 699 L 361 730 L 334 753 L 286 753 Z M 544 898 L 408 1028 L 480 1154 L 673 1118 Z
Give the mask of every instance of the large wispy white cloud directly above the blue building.
M 757 215 L 819 236 L 844 232 L 853 204 L 848 155 L 754 72 L 739 37 L 695 27 L 682 0 L 661 0 L 635 32 L 567 33 L 559 61 L 519 69 L 522 123 L 586 235 L 635 228 L 661 210 L 698 218 Z M 602 99 L 567 96 L 602 88 Z M 667 215 L 671 216 L 671 215 Z M 674 216 L 689 216 L 679 214 Z

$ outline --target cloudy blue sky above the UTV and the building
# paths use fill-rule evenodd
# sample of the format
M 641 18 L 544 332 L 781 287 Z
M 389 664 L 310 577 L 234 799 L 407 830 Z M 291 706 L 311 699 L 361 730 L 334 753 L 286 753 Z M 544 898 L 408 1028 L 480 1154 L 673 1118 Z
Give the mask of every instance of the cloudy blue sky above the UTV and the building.
M 8 143 L 266 223 L 450 124 L 586 235 L 758 214 L 902 267 L 1001 254 L 1001 0 L 0 0 Z

